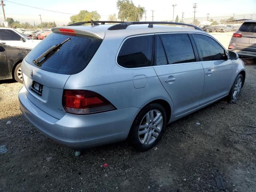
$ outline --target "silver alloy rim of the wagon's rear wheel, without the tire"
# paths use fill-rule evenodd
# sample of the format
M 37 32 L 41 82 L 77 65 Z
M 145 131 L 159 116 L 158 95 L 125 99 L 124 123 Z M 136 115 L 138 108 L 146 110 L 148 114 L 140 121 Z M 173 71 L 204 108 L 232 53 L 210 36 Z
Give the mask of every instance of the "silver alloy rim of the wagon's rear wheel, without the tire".
M 159 136 L 163 127 L 163 116 L 158 110 L 150 110 L 140 122 L 138 136 L 144 145 L 152 144 Z

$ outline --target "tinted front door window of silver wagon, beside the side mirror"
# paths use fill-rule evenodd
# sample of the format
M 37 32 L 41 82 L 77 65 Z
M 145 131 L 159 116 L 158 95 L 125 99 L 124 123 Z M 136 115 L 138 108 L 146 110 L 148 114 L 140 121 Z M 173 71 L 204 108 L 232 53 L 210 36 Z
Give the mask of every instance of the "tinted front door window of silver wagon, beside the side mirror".
M 225 60 L 225 50 L 215 40 L 199 34 L 193 34 L 193 37 L 203 61 Z

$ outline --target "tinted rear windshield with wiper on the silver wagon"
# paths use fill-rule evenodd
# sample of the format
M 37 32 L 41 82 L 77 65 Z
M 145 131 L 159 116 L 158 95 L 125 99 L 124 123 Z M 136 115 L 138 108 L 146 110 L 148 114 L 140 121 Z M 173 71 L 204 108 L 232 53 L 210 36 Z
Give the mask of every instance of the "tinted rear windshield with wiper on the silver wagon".
M 58 51 L 48 57 L 44 62 L 34 64 L 40 55 L 56 44 L 60 44 L 64 40 L 70 40 L 64 43 Z M 54 72 L 58 74 L 76 74 L 81 72 L 90 62 L 95 52 L 98 50 L 102 39 L 93 36 L 85 36 L 76 34 L 70 36 L 60 33 L 51 33 L 42 40 L 32 51 L 26 56 L 25 60 L 42 70 Z M 42 58 L 44 60 L 44 58 Z

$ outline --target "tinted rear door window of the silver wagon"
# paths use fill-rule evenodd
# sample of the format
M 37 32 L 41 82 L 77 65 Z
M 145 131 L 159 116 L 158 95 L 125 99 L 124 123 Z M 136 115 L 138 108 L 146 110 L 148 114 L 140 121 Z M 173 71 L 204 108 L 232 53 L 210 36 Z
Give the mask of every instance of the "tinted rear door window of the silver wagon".
M 196 61 L 192 44 L 187 34 L 162 34 L 158 36 L 160 41 L 158 40 L 157 43 L 160 44 L 162 42 L 168 64 Z M 160 45 L 159 48 L 161 48 Z M 158 55 L 160 58 L 157 60 L 164 62 L 162 59 L 163 54 Z

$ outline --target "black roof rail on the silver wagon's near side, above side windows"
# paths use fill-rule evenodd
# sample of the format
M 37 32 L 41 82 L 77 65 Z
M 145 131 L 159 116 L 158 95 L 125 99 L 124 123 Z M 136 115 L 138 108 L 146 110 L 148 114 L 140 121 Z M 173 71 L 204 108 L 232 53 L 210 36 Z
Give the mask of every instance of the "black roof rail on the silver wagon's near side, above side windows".
M 164 21 L 136 21 L 136 22 L 122 22 L 116 25 L 113 25 L 108 28 L 108 30 L 120 30 L 120 29 L 126 29 L 130 25 L 138 25 L 138 24 L 148 24 L 148 28 L 153 28 L 153 24 L 172 24 L 172 25 L 184 25 L 184 26 L 190 26 L 194 27 L 197 30 L 202 31 L 201 28 L 191 25 L 191 24 L 186 24 L 186 23 L 178 23 L 178 22 L 164 22 Z

